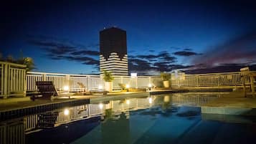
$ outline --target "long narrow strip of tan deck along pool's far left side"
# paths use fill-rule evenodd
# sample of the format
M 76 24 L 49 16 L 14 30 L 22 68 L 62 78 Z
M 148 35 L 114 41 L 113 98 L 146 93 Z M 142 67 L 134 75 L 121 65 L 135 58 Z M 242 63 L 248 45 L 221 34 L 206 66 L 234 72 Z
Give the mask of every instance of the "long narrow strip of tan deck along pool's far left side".
M 184 92 L 184 90 L 170 90 L 170 89 L 161 89 L 161 90 L 151 90 L 147 92 L 109 92 L 108 95 L 66 95 L 64 97 L 58 97 L 57 99 L 45 100 L 45 99 L 36 99 L 34 101 L 30 100 L 30 97 L 13 97 L 0 100 L 0 112 L 5 112 L 9 110 L 23 109 L 27 107 L 37 107 L 40 105 L 50 105 L 50 104 L 60 104 L 63 102 L 72 102 L 72 101 L 81 101 L 81 100 L 90 100 L 90 102 L 101 102 L 105 100 L 117 100 L 125 97 L 140 97 L 148 95 L 157 95 L 163 93 L 171 92 Z

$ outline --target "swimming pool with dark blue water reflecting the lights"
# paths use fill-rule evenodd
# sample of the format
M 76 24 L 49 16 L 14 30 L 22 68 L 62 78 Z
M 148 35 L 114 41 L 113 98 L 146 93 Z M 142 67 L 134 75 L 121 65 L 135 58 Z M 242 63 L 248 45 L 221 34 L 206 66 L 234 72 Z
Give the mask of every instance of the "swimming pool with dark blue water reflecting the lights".
M 254 117 L 236 123 L 202 117 L 200 105 L 217 97 L 194 93 L 109 100 L 11 120 L 6 128 L 18 127 L 7 133 L 24 143 L 253 143 Z

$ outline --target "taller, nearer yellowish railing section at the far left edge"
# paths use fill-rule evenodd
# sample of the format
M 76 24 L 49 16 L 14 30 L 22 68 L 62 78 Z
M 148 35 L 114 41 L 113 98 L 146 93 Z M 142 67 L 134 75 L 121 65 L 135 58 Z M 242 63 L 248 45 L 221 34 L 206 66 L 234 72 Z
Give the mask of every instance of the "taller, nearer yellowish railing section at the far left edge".
M 26 95 L 26 65 L 0 62 L 0 97 Z

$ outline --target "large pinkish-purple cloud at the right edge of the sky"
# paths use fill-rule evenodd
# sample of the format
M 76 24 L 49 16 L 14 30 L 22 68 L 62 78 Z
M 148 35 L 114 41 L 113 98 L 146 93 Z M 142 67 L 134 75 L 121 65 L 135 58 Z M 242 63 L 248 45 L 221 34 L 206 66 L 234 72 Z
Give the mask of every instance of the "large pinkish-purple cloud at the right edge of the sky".
M 223 44 L 212 47 L 201 57 L 196 57 L 194 64 L 204 63 L 209 67 L 218 64 L 246 63 L 256 60 L 256 31 L 242 34 L 235 39 L 229 39 Z

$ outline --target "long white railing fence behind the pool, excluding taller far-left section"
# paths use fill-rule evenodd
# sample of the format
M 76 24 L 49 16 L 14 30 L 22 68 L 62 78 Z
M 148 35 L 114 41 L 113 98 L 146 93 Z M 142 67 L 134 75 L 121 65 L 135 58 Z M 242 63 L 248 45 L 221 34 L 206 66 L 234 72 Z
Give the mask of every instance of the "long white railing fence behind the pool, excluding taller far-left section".
M 62 90 L 65 85 L 70 87 L 70 91 L 76 91 L 79 88 L 77 82 L 85 85 L 86 90 L 95 90 L 101 85 L 104 87 L 103 78 L 100 75 L 68 75 L 46 72 L 28 72 L 27 91 L 35 91 L 36 81 L 50 80 L 54 82 L 58 90 Z M 148 87 L 149 84 L 156 87 L 162 87 L 160 77 L 149 76 L 115 76 L 113 88 L 120 89 L 119 83 L 128 84 L 130 87 Z M 200 75 L 172 75 L 171 87 L 237 87 L 241 86 L 240 72 L 224 72 Z

